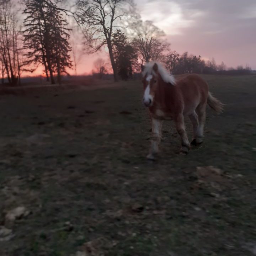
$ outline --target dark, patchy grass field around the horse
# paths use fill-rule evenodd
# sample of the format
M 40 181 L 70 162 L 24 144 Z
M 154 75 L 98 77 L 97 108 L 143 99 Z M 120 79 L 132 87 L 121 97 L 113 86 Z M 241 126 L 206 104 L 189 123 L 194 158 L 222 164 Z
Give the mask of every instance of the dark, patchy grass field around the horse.
M 1 95 L 0 255 L 256 255 L 256 76 L 205 79 L 225 112 L 187 156 L 165 122 L 157 162 L 140 81 Z

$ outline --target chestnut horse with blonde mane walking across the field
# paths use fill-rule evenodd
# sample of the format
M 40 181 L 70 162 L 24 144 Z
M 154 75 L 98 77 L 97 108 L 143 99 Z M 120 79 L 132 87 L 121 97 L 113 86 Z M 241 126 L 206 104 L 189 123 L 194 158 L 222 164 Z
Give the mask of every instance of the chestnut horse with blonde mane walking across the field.
M 184 74 L 179 78 L 159 62 L 142 66 L 144 87 L 143 102 L 149 109 L 152 136 L 147 158 L 156 160 L 159 153 L 163 120 L 173 120 L 181 137 L 181 154 L 187 154 L 191 145 L 203 142 L 207 104 L 216 112 L 223 112 L 224 104 L 209 92 L 207 82 L 197 74 Z M 193 125 L 193 140 L 187 137 L 184 117 L 188 116 Z

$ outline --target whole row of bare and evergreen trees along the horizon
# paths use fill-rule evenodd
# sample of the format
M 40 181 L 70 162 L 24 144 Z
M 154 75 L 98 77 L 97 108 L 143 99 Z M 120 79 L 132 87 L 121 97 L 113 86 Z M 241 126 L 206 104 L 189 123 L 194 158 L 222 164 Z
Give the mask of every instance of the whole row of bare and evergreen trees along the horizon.
M 70 43 L 73 19 L 83 34 L 84 51 L 107 48 L 114 80 L 127 80 L 140 65 L 159 60 L 172 74 L 248 74 L 249 67 L 227 70 L 224 63 L 170 50 L 165 33 L 153 22 L 140 20 L 133 0 L 0 0 L 0 74 L 10 85 L 20 84 L 24 72 L 43 66 L 47 81 L 60 83 L 78 64 Z M 63 7 L 65 6 L 65 8 Z M 21 11 L 20 11 L 21 10 Z M 18 15 L 19 14 L 19 15 Z M 72 57 L 71 57 L 72 55 Z M 97 73 L 106 72 L 104 60 L 95 63 Z

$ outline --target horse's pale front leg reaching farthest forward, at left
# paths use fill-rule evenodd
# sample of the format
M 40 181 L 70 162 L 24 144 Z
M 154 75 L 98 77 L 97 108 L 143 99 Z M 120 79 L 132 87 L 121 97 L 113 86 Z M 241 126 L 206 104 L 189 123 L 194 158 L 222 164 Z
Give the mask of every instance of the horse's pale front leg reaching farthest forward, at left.
M 156 160 L 156 156 L 159 152 L 159 143 L 161 140 L 161 131 L 162 131 L 162 120 L 151 118 L 152 124 L 152 138 L 151 138 L 151 148 L 147 158 L 149 160 Z

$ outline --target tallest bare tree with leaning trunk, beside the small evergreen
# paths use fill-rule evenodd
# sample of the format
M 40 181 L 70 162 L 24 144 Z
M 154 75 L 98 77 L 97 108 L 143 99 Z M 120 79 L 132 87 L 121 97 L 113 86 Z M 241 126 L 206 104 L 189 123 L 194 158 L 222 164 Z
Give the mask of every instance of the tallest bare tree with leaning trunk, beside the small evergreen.
M 133 0 L 77 0 L 75 18 L 83 28 L 89 53 L 97 52 L 107 45 L 114 80 L 118 72 L 113 57 L 112 34 L 121 20 L 129 18 L 134 12 Z

